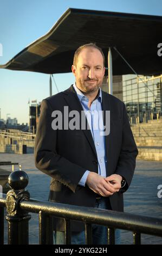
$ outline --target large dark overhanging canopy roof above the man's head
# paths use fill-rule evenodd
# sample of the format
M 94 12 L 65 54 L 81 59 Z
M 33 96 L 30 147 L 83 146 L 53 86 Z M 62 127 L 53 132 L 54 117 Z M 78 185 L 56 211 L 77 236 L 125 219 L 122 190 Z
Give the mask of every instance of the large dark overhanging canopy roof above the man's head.
M 133 73 L 113 47 L 138 74 L 161 74 L 162 57 L 157 54 L 161 31 L 162 16 L 70 8 L 46 35 L 0 68 L 47 74 L 70 72 L 76 48 L 96 42 L 106 60 L 108 47 L 112 47 L 113 75 Z

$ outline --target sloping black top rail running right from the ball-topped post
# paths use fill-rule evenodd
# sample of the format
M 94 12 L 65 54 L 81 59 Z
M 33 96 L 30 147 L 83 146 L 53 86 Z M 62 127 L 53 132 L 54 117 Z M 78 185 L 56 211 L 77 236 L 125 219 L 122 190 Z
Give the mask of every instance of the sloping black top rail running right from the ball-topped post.
M 112 210 L 87 208 L 83 206 L 47 202 L 43 200 L 22 200 L 21 209 L 38 214 L 68 218 L 88 223 L 106 225 L 129 231 L 138 231 L 143 234 L 162 236 L 162 219 L 128 214 Z

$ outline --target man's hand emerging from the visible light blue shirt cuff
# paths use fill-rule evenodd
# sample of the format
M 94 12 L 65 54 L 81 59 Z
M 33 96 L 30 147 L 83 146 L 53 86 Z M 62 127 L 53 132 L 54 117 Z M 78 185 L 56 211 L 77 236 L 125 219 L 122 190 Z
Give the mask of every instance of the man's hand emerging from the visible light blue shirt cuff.
M 87 176 L 86 184 L 91 190 L 100 194 L 102 197 L 112 196 L 116 192 L 116 189 L 111 182 L 105 179 L 97 173 L 90 172 Z

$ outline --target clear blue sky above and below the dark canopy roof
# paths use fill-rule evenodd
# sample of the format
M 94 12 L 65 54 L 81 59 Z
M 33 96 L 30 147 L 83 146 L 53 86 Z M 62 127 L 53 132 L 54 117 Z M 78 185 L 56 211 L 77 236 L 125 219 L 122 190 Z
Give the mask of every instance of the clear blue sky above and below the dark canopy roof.
M 8 62 L 31 42 L 46 34 L 68 8 L 117 11 L 135 14 L 162 14 L 161 0 L 1 0 L 0 44 L 3 56 L 0 64 Z M 74 82 L 72 74 L 55 74 L 59 91 Z M 57 90 L 53 84 L 53 94 Z M 0 69 L 1 118 L 17 118 L 28 123 L 28 100 L 41 101 L 49 96 L 49 75 L 28 71 Z

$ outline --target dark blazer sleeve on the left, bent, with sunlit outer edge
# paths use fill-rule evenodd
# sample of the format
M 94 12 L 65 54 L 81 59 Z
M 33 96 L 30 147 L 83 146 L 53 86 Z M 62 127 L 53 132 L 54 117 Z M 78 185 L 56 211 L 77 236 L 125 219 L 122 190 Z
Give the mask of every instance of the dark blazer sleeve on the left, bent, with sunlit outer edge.
M 75 192 L 86 169 L 57 154 L 57 130 L 51 127 L 52 109 L 48 100 L 41 103 L 41 113 L 35 138 L 35 166 L 51 178 L 60 181 Z

